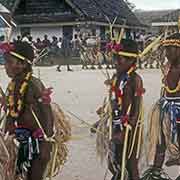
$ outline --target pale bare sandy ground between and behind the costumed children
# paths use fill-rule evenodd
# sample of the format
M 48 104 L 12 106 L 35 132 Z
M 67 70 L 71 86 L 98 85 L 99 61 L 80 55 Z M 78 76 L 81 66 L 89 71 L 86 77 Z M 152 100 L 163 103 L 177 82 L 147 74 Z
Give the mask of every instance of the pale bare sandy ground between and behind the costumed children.
M 104 86 L 105 76 L 101 70 L 81 70 L 79 66 L 73 67 L 74 72 L 57 72 L 56 67 L 34 68 L 34 74 L 40 78 L 47 87 L 54 88 L 53 100 L 60 104 L 64 111 L 70 111 L 93 124 L 98 120 L 96 109 L 101 105 L 103 97 L 107 94 Z M 105 72 L 105 70 L 104 70 Z M 113 71 L 110 71 L 112 74 Z M 146 93 L 144 96 L 145 116 L 147 116 L 153 102 L 159 97 L 161 74 L 159 70 L 140 70 L 139 74 L 144 81 Z M 5 89 L 8 78 L 4 68 L 0 67 L 0 85 Z M 89 127 L 71 117 L 73 138 L 69 142 L 69 158 L 61 174 L 54 180 L 103 180 L 106 164 L 100 164 L 96 157 L 95 135 L 89 133 Z M 146 120 L 147 122 L 147 120 Z M 142 162 L 144 165 L 144 162 Z M 166 168 L 166 167 L 165 167 Z M 175 179 L 179 174 L 178 167 L 167 169 L 168 174 Z M 107 180 L 110 180 L 110 173 Z

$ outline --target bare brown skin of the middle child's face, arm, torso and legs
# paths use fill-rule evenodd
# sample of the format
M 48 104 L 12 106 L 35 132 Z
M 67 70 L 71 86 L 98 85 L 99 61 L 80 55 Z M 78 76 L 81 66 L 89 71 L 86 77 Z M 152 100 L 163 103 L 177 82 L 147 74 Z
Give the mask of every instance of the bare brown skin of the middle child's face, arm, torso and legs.
M 126 58 L 123 56 L 119 56 L 115 62 L 117 77 L 120 77 L 122 73 L 127 72 L 130 69 L 130 67 L 134 65 L 134 62 L 135 62 L 134 58 Z M 118 86 L 119 86 L 119 83 L 117 84 L 117 87 Z M 128 120 L 128 123 L 132 126 L 132 134 L 134 133 L 134 128 L 138 120 L 138 115 L 139 115 L 139 110 L 140 110 L 139 107 L 140 107 L 140 102 L 141 102 L 141 96 L 135 96 L 135 92 L 140 89 L 141 90 L 143 89 L 142 79 L 138 74 L 133 73 L 133 75 L 131 75 L 130 79 L 128 80 L 125 86 L 123 100 L 122 100 L 122 115 L 126 115 L 129 105 L 130 104 L 132 105 L 130 114 L 129 114 L 129 120 Z M 113 139 L 115 138 L 116 139 L 115 141 L 120 142 L 120 144 L 118 145 L 118 149 L 119 149 L 118 150 L 119 157 L 117 158 L 118 160 L 121 159 L 122 157 L 124 135 L 125 135 L 125 130 L 123 130 L 122 132 L 113 134 Z M 131 138 L 129 137 L 129 140 L 130 139 Z M 135 144 L 137 145 L 137 137 L 136 137 Z M 130 179 L 132 180 L 139 179 L 138 159 L 136 159 L 136 149 L 137 149 L 136 145 L 134 147 L 131 158 L 128 159 L 127 161 L 127 166 L 126 166 L 129 172 Z M 109 168 L 111 172 L 114 174 L 115 172 L 113 172 L 112 168 L 111 167 Z

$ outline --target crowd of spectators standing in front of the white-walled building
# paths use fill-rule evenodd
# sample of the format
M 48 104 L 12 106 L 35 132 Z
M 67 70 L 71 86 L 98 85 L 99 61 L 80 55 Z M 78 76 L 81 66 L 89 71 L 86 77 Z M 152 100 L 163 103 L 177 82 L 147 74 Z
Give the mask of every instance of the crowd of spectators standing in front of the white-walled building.
M 138 43 L 139 51 L 143 51 L 145 41 L 150 36 L 150 34 L 145 35 L 144 32 L 141 32 L 133 37 Z M 109 68 L 109 64 L 112 64 L 109 45 L 112 44 L 113 46 L 115 43 L 115 40 L 112 41 L 110 39 L 109 34 L 106 34 L 104 37 L 92 36 L 90 34 L 75 34 L 73 37 L 65 35 L 63 37 L 52 36 L 51 38 L 48 35 L 44 35 L 43 39 L 37 38 L 36 40 L 30 34 L 24 34 L 22 37 L 17 36 L 13 41 L 28 42 L 34 48 L 36 56 L 46 49 L 48 53 L 44 57 L 48 57 L 47 61 L 50 63 L 53 63 L 53 60 L 56 59 L 59 64 L 57 67 L 58 71 L 61 71 L 60 67 L 62 64 L 66 64 L 67 70 L 72 71 L 70 68 L 72 57 L 78 57 L 83 64 L 83 68 L 87 68 L 87 64 L 90 64 L 92 69 L 94 69 L 95 64 L 100 68 L 101 64 L 106 64 L 107 68 Z

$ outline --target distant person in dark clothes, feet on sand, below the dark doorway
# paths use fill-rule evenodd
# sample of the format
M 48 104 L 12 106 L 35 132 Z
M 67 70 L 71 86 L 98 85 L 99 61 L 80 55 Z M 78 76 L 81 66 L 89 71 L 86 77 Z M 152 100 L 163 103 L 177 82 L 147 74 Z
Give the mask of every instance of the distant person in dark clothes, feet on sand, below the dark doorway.
M 62 52 L 62 58 L 65 64 L 67 65 L 67 71 L 73 71 L 70 66 L 70 60 L 72 56 L 72 47 L 71 47 L 71 38 L 70 36 L 64 36 L 62 39 L 62 45 L 61 45 L 61 52 Z M 58 65 L 57 71 L 61 71 L 61 64 Z

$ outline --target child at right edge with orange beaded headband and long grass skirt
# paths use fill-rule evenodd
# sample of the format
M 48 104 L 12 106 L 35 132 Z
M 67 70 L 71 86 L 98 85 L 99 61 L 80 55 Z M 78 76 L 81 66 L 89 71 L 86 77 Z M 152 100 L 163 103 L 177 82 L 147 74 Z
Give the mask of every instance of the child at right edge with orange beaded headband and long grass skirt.
M 148 158 L 152 167 L 145 171 L 148 176 L 143 179 L 160 174 L 164 163 L 166 166 L 180 165 L 180 33 L 167 37 L 162 46 L 168 63 L 162 69 L 161 97 L 150 116 Z

